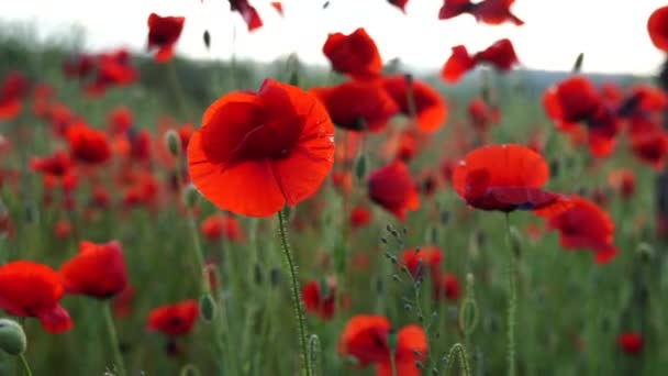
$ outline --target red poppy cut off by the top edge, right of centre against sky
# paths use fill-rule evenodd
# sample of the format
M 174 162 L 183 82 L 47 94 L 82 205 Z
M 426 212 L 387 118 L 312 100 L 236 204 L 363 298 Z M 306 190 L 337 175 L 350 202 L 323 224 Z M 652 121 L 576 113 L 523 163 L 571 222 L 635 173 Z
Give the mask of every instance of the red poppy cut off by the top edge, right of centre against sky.
M 448 20 L 469 13 L 476 18 L 476 21 L 490 25 L 512 22 L 521 26 L 524 21 L 510 11 L 510 7 L 514 2 L 515 0 L 483 0 L 477 3 L 472 3 L 470 0 L 444 0 L 443 7 L 438 11 L 438 19 Z

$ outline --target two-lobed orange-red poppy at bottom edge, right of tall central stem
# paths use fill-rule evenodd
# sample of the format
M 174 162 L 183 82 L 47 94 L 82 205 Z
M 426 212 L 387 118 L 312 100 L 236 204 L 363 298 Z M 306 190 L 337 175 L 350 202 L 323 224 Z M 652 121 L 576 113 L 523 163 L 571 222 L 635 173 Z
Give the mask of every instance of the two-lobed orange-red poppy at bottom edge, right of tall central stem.
M 377 376 L 392 375 L 388 333 L 390 322 L 381 316 L 358 314 L 346 323 L 338 342 L 341 355 L 353 356 L 359 367 L 376 364 Z M 426 338 L 422 328 L 407 325 L 397 332 L 394 361 L 397 375 L 419 376 L 422 374 L 415 362 L 426 353 Z

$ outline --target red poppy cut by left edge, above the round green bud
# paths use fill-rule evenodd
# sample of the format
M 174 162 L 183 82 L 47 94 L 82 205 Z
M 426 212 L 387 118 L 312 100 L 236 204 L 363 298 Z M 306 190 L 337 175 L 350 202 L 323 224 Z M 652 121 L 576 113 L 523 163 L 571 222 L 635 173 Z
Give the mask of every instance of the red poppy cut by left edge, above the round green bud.
M 18 317 L 37 318 L 47 332 L 73 327 L 69 313 L 58 305 L 60 278 L 46 265 L 25 261 L 0 266 L 0 308 Z

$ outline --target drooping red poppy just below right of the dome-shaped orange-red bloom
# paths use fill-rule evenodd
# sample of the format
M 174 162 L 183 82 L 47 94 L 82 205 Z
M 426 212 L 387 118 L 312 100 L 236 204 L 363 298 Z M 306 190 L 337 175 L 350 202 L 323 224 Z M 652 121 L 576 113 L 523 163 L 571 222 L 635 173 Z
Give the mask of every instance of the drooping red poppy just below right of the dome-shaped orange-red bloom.
M 597 264 L 604 264 L 617 253 L 612 244 L 614 223 L 595 203 L 581 197 L 571 198 L 567 210 L 544 215 L 547 230 L 559 231 L 559 244 L 566 250 L 589 248 Z

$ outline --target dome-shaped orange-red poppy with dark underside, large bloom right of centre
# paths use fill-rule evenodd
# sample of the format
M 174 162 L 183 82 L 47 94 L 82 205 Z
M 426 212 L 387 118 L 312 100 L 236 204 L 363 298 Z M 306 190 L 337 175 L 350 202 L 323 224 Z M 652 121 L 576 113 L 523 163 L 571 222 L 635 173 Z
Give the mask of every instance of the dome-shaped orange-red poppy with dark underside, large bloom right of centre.
M 542 190 L 549 176 L 538 153 L 522 145 L 487 145 L 459 162 L 453 175 L 457 195 L 481 210 L 557 212 L 568 199 Z

